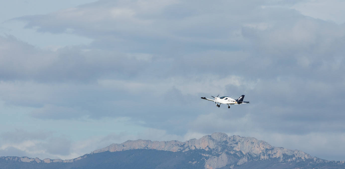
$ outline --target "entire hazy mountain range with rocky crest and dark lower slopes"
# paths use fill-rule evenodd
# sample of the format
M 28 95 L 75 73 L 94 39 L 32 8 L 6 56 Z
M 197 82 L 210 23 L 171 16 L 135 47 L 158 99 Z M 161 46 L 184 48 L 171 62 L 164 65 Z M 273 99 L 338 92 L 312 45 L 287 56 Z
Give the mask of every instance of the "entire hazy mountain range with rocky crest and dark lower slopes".
M 128 140 L 75 159 L 0 157 L 0 168 L 345 168 L 253 137 L 213 133 L 186 142 Z

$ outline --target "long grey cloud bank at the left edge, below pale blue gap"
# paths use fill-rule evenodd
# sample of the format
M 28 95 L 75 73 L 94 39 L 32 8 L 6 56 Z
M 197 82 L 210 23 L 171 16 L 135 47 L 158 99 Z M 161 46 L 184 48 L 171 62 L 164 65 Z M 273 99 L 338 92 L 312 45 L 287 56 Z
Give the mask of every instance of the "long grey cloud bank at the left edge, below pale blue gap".
M 135 76 L 140 69 L 152 64 L 150 57 L 142 59 L 145 54 L 140 56 L 140 53 L 96 49 L 85 51 L 80 47 L 49 52 L 23 43 L 13 36 L 0 36 L 0 41 L 5 44 L 0 48 L 2 80 L 89 82 L 102 77 Z

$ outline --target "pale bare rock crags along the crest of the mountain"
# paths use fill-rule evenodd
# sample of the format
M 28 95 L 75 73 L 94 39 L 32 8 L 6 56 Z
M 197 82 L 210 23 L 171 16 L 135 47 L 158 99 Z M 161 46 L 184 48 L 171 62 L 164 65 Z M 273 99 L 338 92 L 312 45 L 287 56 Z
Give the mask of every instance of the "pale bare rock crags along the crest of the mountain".
M 186 142 L 179 141 L 161 141 L 152 142 L 151 140 L 128 140 L 122 144 L 111 144 L 105 148 L 92 151 L 92 153 L 101 153 L 104 151 L 124 151 L 130 149 L 157 149 L 165 151 L 188 151 L 194 149 L 213 150 L 214 153 L 231 154 L 250 154 L 260 159 L 283 158 L 284 155 L 294 156 L 294 158 L 309 159 L 313 158 L 309 154 L 299 150 L 290 150 L 282 147 L 273 147 L 267 142 L 257 140 L 253 137 L 230 136 L 225 133 L 213 133 L 200 139 L 190 139 Z M 237 152 L 239 151 L 239 152 Z

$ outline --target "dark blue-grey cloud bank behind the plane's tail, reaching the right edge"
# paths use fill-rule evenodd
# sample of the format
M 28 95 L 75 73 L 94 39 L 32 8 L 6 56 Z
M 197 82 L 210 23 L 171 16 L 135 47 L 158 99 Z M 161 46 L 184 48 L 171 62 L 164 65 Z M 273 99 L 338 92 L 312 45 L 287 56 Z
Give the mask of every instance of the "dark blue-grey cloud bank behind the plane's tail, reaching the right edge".
M 229 86 L 227 93 L 240 95 L 246 91 L 243 93 L 245 100 L 251 103 L 233 106 L 227 111 L 215 108 L 210 114 L 203 113 L 191 120 L 188 128 L 200 133 L 252 130 L 298 135 L 342 133 L 345 116 L 339 110 L 339 103 L 345 100 L 337 93 L 345 92 L 341 89 L 343 84 L 332 83 L 330 86 L 328 82 L 282 77 L 274 81 L 260 80 L 254 89 Z

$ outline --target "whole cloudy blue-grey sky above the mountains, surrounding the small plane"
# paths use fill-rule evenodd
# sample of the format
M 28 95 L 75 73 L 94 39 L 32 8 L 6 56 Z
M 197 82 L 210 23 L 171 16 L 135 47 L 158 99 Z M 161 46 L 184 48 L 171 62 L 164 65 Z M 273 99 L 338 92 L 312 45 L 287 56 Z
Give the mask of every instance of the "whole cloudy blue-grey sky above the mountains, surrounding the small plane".
M 342 0 L 1 4 L 0 156 L 225 132 L 345 160 Z

